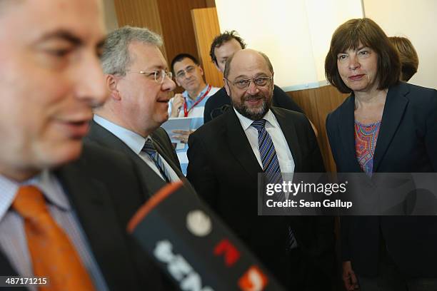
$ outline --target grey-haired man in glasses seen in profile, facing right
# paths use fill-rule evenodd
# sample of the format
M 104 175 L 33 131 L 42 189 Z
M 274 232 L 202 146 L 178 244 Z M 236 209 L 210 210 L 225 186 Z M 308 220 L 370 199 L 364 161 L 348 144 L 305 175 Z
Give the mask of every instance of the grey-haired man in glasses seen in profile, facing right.
M 101 63 L 109 99 L 94 111 L 87 137 L 129 155 L 149 195 L 165 183 L 186 181 L 169 136 L 160 128 L 169 118 L 170 93 L 176 87 L 161 44 L 161 36 L 131 26 L 107 36 Z

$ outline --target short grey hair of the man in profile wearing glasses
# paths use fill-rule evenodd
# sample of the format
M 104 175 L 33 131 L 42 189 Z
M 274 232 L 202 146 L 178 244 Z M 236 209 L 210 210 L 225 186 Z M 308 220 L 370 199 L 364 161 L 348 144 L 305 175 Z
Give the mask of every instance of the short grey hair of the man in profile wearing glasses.
M 126 75 L 126 68 L 131 64 L 129 44 L 139 41 L 152 46 L 162 46 L 162 38 L 146 28 L 123 26 L 111 31 L 106 36 L 100 61 L 103 71 L 111 75 Z

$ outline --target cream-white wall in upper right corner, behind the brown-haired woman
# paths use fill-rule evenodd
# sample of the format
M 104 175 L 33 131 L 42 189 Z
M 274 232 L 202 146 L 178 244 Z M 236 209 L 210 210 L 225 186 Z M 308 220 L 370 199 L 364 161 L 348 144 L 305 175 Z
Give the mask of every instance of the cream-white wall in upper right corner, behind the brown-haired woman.
M 364 0 L 364 13 L 388 36 L 405 36 L 416 48 L 418 72 L 409 83 L 437 88 L 437 1 Z

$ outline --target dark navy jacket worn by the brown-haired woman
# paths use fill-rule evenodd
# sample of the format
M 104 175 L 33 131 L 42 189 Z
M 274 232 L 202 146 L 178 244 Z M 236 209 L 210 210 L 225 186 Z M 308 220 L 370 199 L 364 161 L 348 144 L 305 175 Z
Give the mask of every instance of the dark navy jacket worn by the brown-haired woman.
M 352 94 L 326 118 L 326 131 L 340 173 L 361 171 L 355 152 L 354 110 Z M 436 170 L 437 91 L 408 83 L 391 86 L 376 142 L 373 172 Z M 343 260 L 351 260 L 353 270 L 358 274 L 376 275 L 382 233 L 388 254 L 405 275 L 437 277 L 436 226 L 435 217 L 343 218 Z

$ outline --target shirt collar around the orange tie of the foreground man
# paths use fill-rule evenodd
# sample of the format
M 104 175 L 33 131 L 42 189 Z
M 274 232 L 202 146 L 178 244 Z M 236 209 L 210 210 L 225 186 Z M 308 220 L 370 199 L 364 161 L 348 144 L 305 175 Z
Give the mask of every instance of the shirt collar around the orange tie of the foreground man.
M 64 194 L 59 181 L 49 170 L 44 170 L 39 175 L 21 183 L 0 175 L 0 220 L 11 207 L 21 185 L 35 185 L 44 193 L 44 197 L 49 200 L 49 203 L 56 205 L 62 210 L 71 209 L 69 200 Z

